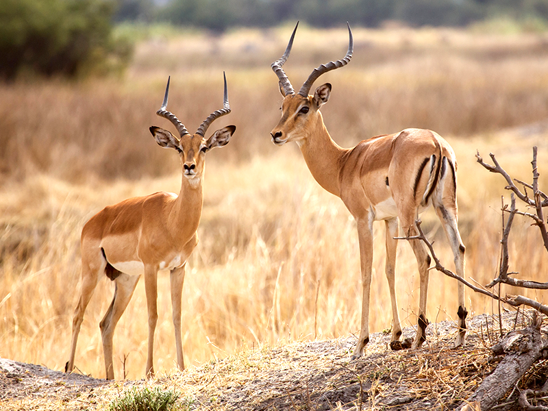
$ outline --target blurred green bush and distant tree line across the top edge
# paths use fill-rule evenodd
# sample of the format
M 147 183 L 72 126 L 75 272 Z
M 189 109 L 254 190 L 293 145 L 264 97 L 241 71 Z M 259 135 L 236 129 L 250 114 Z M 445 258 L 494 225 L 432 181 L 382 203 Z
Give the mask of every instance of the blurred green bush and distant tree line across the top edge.
M 3 0 L 0 77 L 119 73 L 137 35 L 125 23 L 139 23 L 142 36 L 142 26 L 155 23 L 220 34 L 296 20 L 314 27 L 347 20 L 353 27 L 462 27 L 500 19 L 544 29 L 548 0 Z

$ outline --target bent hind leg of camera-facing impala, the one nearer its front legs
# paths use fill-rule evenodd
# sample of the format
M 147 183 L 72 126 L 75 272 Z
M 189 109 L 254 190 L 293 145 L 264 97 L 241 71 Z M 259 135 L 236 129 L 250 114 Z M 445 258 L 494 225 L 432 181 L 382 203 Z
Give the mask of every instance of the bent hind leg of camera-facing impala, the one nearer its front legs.
M 106 379 L 114 379 L 114 366 L 112 363 L 112 337 L 114 329 L 120 320 L 127 304 L 132 299 L 140 275 L 127 275 L 120 273 L 114 280 L 114 298 L 101 320 L 101 337 L 103 340 L 103 356 L 105 357 Z

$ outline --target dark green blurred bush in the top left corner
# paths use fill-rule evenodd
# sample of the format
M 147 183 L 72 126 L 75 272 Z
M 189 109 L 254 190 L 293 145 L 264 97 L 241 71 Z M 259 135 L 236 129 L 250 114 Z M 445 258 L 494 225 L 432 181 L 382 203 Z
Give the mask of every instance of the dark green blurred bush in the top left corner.
M 108 0 L 0 1 L 0 77 L 120 69 L 132 45 L 112 36 L 114 6 Z

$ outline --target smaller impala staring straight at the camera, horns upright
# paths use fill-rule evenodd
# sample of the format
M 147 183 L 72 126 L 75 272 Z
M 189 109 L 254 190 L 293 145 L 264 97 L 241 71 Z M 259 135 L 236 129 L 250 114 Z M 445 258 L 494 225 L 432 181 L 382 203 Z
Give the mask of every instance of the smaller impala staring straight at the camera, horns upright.
M 158 271 L 170 272 L 171 304 L 175 327 L 177 365 L 184 370 L 181 333 L 182 290 L 186 261 L 198 243 L 197 229 L 203 204 L 203 173 L 206 152 L 226 145 L 236 127 L 229 125 L 204 136 L 210 124 L 231 111 L 225 79 L 223 108 L 208 116 L 191 135 L 175 114 L 167 111 L 168 78 L 164 102 L 158 116 L 175 125 L 179 138 L 160 127 L 150 132 L 160 147 L 174 149 L 179 154 L 182 184 L 179 195 L 156 192 L 107 206 L 82 229 L 82 289 L 73 316 L 71 354 L 65 372 L 74 368 L 76 343 L 84 312 L 99 280 L 106 275 L 114 281 L 114 298 L 101 320 L 101 338 L 107 379 L 114 379 L 112 365 L 112 336 L 136 288 L 140 276 L 145 277 L 148 310 L 148 356 L 146 375 L 154 375 L 153 343 L 158 321 Z

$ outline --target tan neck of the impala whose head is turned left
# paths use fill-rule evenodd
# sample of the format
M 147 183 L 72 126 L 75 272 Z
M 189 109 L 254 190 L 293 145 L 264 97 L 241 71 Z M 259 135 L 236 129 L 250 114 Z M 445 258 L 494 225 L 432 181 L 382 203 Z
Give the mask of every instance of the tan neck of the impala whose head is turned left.
M 318 114 L 313 131 L 297 143 L 312 177 L 325 190 L 340 197 L 340 160 L 348 150 L 334 142 L 323 124 L 321 113 Z

